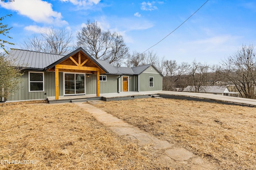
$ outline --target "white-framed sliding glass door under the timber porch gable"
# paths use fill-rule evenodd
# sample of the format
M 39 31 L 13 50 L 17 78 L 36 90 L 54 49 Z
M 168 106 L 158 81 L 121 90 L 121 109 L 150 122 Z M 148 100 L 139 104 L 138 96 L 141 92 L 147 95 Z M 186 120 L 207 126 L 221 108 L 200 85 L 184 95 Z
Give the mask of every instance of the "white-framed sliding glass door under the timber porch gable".
M 85 74 L 64 73 L 64 95 L 85 94 Z

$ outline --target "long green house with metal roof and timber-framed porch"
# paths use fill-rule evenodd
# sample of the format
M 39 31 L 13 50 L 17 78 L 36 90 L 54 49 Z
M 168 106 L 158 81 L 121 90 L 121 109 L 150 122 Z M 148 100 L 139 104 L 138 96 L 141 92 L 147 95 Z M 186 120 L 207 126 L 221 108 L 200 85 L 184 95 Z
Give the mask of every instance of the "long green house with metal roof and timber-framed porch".
M 20 90 L 8 101 L 55 96 L 162 90 L 162 74 L 153 64 L 133 68 L 112 66 L 91 57 L 81 47 L 68 55 L 11 50 L 9 57 L 26 66 Z

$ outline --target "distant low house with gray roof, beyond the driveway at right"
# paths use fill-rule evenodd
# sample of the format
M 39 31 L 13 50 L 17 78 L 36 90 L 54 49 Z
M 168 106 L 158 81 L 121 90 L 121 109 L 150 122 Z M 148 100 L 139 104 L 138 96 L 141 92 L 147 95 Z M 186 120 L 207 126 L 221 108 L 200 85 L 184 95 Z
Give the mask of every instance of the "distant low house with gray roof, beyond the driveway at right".
M 196 92 L 194 86 L 187 86 L 183 92 Z M 209 93 L 223 96 L 238 96 L 238 92 L 230 92 L 226 86 L 200 86 L 199 93 Z

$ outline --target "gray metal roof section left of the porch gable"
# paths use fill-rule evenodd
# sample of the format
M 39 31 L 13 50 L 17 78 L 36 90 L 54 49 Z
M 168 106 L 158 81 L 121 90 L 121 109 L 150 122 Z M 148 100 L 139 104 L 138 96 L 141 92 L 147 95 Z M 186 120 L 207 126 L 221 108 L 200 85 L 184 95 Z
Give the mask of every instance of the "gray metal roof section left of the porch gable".
M 46 66 L 58 61 L 64 55 L 56 55 L 49 53 L 40 53 L 26 50 L 11 50 L 7 56 L 10 59 L 15 59 L 17 66 L 24 66 L 31 69 L 42 70 Z

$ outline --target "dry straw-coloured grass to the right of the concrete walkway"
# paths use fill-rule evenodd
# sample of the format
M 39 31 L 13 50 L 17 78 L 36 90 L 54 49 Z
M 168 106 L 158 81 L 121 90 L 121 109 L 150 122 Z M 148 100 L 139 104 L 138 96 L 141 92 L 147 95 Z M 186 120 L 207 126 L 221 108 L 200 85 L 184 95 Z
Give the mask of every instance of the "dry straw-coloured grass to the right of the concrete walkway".
M 256 169 L 255 107 L 154 98 L 96 106 L 219 169 Z

